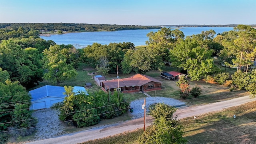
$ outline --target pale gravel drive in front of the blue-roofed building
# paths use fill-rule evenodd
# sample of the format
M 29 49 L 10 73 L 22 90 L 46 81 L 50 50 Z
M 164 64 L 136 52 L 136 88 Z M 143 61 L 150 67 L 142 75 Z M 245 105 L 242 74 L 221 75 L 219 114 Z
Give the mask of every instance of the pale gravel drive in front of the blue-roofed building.
M 34 140 L 51 138 L 64 133 L 64 124 L 58 119 L 58 111 L 51 108 L 35 110 L 32 116 L 37 118 Z

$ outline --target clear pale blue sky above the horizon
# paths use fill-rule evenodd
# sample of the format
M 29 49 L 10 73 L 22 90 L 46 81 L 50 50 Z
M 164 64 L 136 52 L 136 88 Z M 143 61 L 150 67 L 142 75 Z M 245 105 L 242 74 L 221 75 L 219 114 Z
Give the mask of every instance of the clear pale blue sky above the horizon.
M 0 0 L 0 23 L 256 24 L 256 0 Z

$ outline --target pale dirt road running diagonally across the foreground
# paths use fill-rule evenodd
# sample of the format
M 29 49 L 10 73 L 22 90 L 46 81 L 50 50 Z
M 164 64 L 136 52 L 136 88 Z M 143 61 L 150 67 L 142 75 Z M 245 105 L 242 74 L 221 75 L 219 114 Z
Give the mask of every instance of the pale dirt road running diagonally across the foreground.
M 247 102 L 254 101 L 255 99 L 250 99 L 249 96 L 244 96 L 240 98 L 235 98 L 232 100 L 226 100 L 222 102 L 216 102 L 212 104 L 199 105 L 199 106 L 186 106 L 180 107 L 174 114 L 178 114 L 178 119 L 200 116 L 201 114 L 219 111 L 224 108 L 229 108 L 232 106 L 238 106 Z M 153 118 L 148 116 L 146 118 L 146 126 L 152 124 Z M 102 126 L 98 128 L 92 128 L 90 130 L 84 130 L 81 132 L 75 132 L 71 134 L 64 134 L 62 136 L 57 136 L 54 138 L 49 138 L 45 140 L 38 140 L 35 142 L 29 142 L 28 144 L 77 144 L 85 142 L 88 140 L 93 140 L 97 138 L 104 138 L 107 136 L 112 136 L 115 134 L 120 134 L 122 132 L 136 130 L 138 128 L 144 127 L 143 118 L 138 118 L 135 120 L 130 120 L 127 122 L 122 122 L 110 126 Z

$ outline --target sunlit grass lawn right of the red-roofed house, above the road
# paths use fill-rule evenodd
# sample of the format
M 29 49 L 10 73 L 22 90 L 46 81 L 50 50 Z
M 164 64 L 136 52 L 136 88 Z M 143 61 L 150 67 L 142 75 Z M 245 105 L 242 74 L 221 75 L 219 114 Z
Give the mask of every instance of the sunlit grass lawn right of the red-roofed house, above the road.
M 170 68 L 170 67 L 166 67 L 166 68 L 168 68 L 166 70 L 168 72 L 174 70 L 173 68 Z M 233 73 L 232 71 L 234 69 L 228 69 L 228 70 L 231 70 L 230 73 L 232 74 Z M 230 92 L 229 87 L 226 87 L 226 86 L 222 86 L 219 84 L 206 83 L 203 80 L 199 80 L 199 81 L 188 80 L 188 83 L 190 84 L 190 88 L 192 88 L 197 84 L 202 88 L 202 94 L 197 98 L 194 98 L 193 96 L 188 96 L 186 100 L 183 100 L 179 96 L 180 89 L 176 86 L 177 80 L 162 79 L 160 77 L 160 73 L 161 72 L 158 72 L 158 71 L 150 71 L 146 73 L 146 75 L 156 78 L 157 80 L 160 80 L 162 82 L 162 90 L 147 92 L 150 96 L 174 98 L 174 99 L 186 102 L 188 105 L 193 105 L 193 104 L 205 104 L 210 102 L 218 102 L 221 100 L 228 100 L 230 98 L 249 95 L 249 93 L 246 92 L 246 90 L 234 90 Z

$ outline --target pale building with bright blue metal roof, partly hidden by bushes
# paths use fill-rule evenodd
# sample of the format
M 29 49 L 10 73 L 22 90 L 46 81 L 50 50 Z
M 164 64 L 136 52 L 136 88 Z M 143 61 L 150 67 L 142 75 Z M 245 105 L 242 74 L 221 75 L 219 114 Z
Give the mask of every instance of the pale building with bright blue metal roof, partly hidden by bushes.
M 87 94 L 84 87 L 74 86 L 73 92 L 77 93 L 78 91 L 83 91 Z M 31 95 L 31 106 L 30 110 L 38 110 L 43 108 L 50 108 L 54 103 L 62 102 L 65 92 L 64 87 L 62 86 L 42 86 L 34 90 L 30 90 L 29 94 Z

